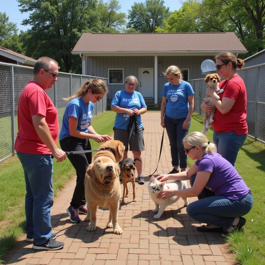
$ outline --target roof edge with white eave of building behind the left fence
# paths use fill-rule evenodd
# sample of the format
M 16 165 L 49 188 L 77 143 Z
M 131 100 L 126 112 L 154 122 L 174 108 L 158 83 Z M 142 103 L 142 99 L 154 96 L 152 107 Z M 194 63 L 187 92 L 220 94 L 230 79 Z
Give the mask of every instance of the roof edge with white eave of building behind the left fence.
M 16 61 L 25 65 L 34 65 L 37 60 L 7 48 L 0 47 L 0 61 L 4 61 L 5 63 L 14 63 Z

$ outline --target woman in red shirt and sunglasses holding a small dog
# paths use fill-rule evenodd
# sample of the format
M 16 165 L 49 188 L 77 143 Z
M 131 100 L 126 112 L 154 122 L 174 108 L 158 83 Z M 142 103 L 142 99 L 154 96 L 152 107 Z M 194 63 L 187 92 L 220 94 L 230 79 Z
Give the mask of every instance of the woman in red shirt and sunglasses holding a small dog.
M 217 108 L 212 123 L 213 142 L 217 145 L 218 153 L 235 166 L 238 151 L 248 134 L 246 87 L 236 72 L 237 68 L 244 66 L 244 61 L 230 52 L 219 54 L 215 59 L 217 72 L 226 79 L 219 84 L 219 88 L 224 90 L 219 94 L 219 100 L 213 96 L 214 90 L 211 87 L 208 86 L 206 91 Z M 201 104 L 201 109 L 210 112 L 213 107 L 206 105 L 207 102 Z

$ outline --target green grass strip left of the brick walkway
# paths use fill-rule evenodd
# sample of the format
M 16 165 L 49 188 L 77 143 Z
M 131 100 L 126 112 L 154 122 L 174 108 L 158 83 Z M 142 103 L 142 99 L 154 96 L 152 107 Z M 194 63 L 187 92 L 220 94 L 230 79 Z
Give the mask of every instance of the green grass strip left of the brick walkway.
M 106 111 L 93 117 L 92 126 L 95 131 L 100 134 L 112 135 L 115 115 L 116 113 L 113 111 Z M 98 149 L 99 143 L 93 140 L 90 142 L 92 149 Z M 57 145 L 59 147 L 59 141 Z M 55 196 L 74 174 L 75 170 L 68 159 L 61 163 L 56 163 L 54 160 L 53 187 Z M 2 264 L 7 251 L 25 232 L 25 180 L 17 156 L 10 157 L 1 163 L 0 183 L 0 264 Z

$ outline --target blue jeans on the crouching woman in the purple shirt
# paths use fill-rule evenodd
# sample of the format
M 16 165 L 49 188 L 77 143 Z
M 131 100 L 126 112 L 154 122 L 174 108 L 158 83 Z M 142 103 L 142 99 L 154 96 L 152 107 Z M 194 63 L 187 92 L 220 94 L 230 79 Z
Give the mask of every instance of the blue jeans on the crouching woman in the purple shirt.
M 191 176 L 191 186 L 196 175 Z M 208 190 L 207 188 L 204 188 Z M 187 206 L 187 214 L 192 219 L 206 224 L 228 228 L 232 225 L 235 217 L 247 214 L 253 206 L 253 197 L 248 193 L 238 200 L 231 200 L 224 196 L 216 196 L 214 192 L 203 190 L 198 196 L 198 201 Z

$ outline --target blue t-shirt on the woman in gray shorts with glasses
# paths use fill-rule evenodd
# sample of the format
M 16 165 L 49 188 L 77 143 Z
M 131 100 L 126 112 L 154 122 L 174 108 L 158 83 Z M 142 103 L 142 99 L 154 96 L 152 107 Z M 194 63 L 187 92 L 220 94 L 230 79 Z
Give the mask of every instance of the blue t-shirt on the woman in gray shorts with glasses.
M 127 93 L 125 90 L 117 91 L 113 97 L 111 107 L 118 106 L 125 109 L 141 109 L 146 108 L 144 98 L 141 93 L 133 91 Z M 129 125 L 130 115 L 127 113 L 117 113 L 114 127 L 122 130 L 127 130 Z M 141 115 L 137 116 L 139 128 L 143 127 Z

